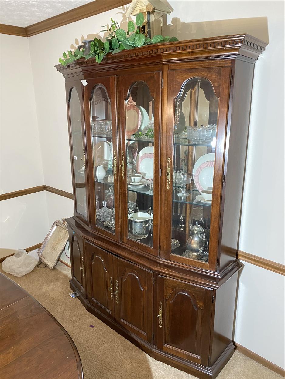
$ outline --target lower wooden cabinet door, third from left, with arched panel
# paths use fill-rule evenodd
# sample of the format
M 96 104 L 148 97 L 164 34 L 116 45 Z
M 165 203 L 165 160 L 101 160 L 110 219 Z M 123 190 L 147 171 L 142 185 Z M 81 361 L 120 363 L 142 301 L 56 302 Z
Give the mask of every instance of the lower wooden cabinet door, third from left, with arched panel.
M 114 257 L 114 276 L 117 323 L 151 343 L 153 273 Z

